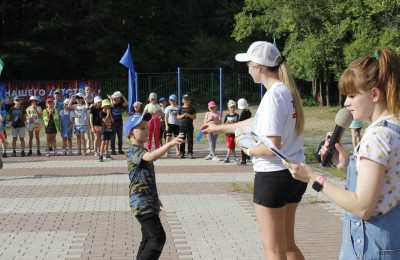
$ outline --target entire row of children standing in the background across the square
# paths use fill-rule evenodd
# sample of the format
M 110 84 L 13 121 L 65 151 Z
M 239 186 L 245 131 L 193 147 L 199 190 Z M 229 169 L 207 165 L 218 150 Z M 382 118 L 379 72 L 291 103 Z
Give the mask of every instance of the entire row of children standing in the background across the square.
M 99 161 L 104 159 L 112 159 L 111 155 L 124 154 L 123 145 L 123 119 L 122 111 L 129 102 L 120 91 L 116 91 L 113 95 L 108 95 L 108 99 L 102 99 L 99 96 L 93 97 L 91 88 L 86 86 L 84 93 L 77 93 L 65 99 L 62 94 L 56 90 L 53 97 L 46 99 L 45 107 L 39 106 L 39 98 L 31 96 L 29 98 L 29 106 L 25 108 L 21 105 L 21 99 L 18 96 L 13 98 L 14 106 L 8 111 L 8 117 L 11 122 L 12 132 L 12 157 L 17 156 L 16 145 L 20 140 L 21 152 L 20 156 L 30 156 L 33 154 L 33 141 L 36 140 L 36 154 L 41 155 L 41 126 L 44 125 L 46 133 L 45 155 L 72 155 L 72 135 L 76 136 L 77 153 L 76 155 L 86 156 L 93 152 L 98 156 Z M 149 103 L 143 105 L 137 101 L 133 104 L 133 114 L 142 115 L 151 114 L 148 121 L 149 137 L 146 142 L 147 150 L 151 150 L 152 142 L 154 148 L 158 149 L 164 143 L 169 143 L 172 136 L 177 137 L 179 133 L 183 133 L 183 140 L 187 140 L 187 156 L 193 158 L 193 137 L 194 126 L 193 120 L 196 119 L 197 111 L 190 105 L 190 96 L 184 94 L 182 96 L 182 106 L 178 105 L 178 97 L 175 94 L 169 96 L 167 100 L 164 97 L 157 98 L 156 93 L 150 93 L 148 97 Z M 167 106 L 169 102 L 169 106 Z M 235 113 L 236 102 L 229 100 L 229 113 L 222 121 L 222 114 L 216 110 L 217 105 L 214 101 L 208 103 L 208 110 L 205 114 L 204 123 L 212 122 L 213 124 L 232 124 L 243 121 L 251 117 L 248 104 L 245 99 L 238 101 L 238 108 L 242 110 L 239 116 Z M 2 140 L 3 154 L 7 157 L 7 133 L 5 131 L 5 117 L 7 114 L 1 115 L 2 129 L 0 131 L 0 139 Z M 25 153 L 25 127 L 29 133 L 29 151 Z M 62 137 L 62 148 L 57 149 L 56 136 L 57 133 Z M 116 139 L 118 143 L 116 144 Z M 207 134 L 210 153 L 205 157 L 206 160 L 219 161 L 216 155 L 216 141 L 218 134 Z M 226 134 L 227 154 L 223 160 L 225 163 L 230 162 L 230 156 L 233 156 L 238 165 L 246 165 L 249 157 L 242 152 L 241 159 L 235 152 L 235 135 Z M 111 143 L 111 145 L 110 145 Z M 111 152 L 109 153 L 109 146 Z M 175 145 L 176 155 L 179 158 L 185 158 L 186 149 L 185 142 Z M 51 153 L 52 152 L 52 153 Z M 168 151 L 165 156 L 168 156 Z

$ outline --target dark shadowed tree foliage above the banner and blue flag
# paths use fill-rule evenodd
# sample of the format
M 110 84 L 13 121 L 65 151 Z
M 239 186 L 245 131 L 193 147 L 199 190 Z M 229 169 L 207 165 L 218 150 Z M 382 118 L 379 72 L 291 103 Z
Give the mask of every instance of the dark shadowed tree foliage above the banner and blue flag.
M 119 60 L 128 43 L 139 72 L 233 70 L 241 44 L 230 35 L 242 6 L 239 0 L 3 0 L 2 79 L 125 76 Z

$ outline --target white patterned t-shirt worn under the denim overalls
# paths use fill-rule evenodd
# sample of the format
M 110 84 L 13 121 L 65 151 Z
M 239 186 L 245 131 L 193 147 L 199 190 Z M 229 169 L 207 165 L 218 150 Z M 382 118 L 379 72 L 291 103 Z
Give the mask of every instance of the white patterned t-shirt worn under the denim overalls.
M 363 174 L 359 171 L 361 157 L 368 158 L 386 167 L 378 204 L 372 214 L 374 217 L 391 210 L 399 203 L 400 197 L 400 135 L 389 127 L 376 125 L 383 119 L 400 125 L 399 121 L 393 116 L 379 118 L 365 129 L 358 152 L 354 149 L 354 154 L 357 154 L 356 170 L 359 175 Z

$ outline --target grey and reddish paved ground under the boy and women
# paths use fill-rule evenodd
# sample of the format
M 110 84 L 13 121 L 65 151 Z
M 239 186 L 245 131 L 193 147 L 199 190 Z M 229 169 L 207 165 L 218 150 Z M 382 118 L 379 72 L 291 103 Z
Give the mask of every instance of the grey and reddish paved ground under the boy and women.
M 251 166 L 176 156 L 155 163 L 167 243 L 161 259 L 264 259 L 252 195 L 231 192 Z M 221 158 L 225 148 L 218 149 Z M 125 157 L 6 158 L 0 170 L 0 259 L 134 259 L 141 234 L 128 206 Z M 335 180 L 339 184 L 343 183 Z M 296 237 L 306 259 L 337 259 L 342 211 L 310 187 Z

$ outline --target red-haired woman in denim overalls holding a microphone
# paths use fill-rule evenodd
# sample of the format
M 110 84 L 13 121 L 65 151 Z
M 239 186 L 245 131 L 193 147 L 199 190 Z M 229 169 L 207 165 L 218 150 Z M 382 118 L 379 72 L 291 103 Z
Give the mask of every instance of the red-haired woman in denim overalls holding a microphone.
M 315 185 L 346 210 L 339 259 L 400 259 L 400 58 L 382 48 L 375 57 L 353 61 L 339 88 L 353 119 L 372 122 L 350 161 L 343 143 L 335 145 L 332 162 L 347 169 L 346 189 L 305 164 L 284 164 L 295 179 Z M 327 139 L 322 156 L 328 145 Z

